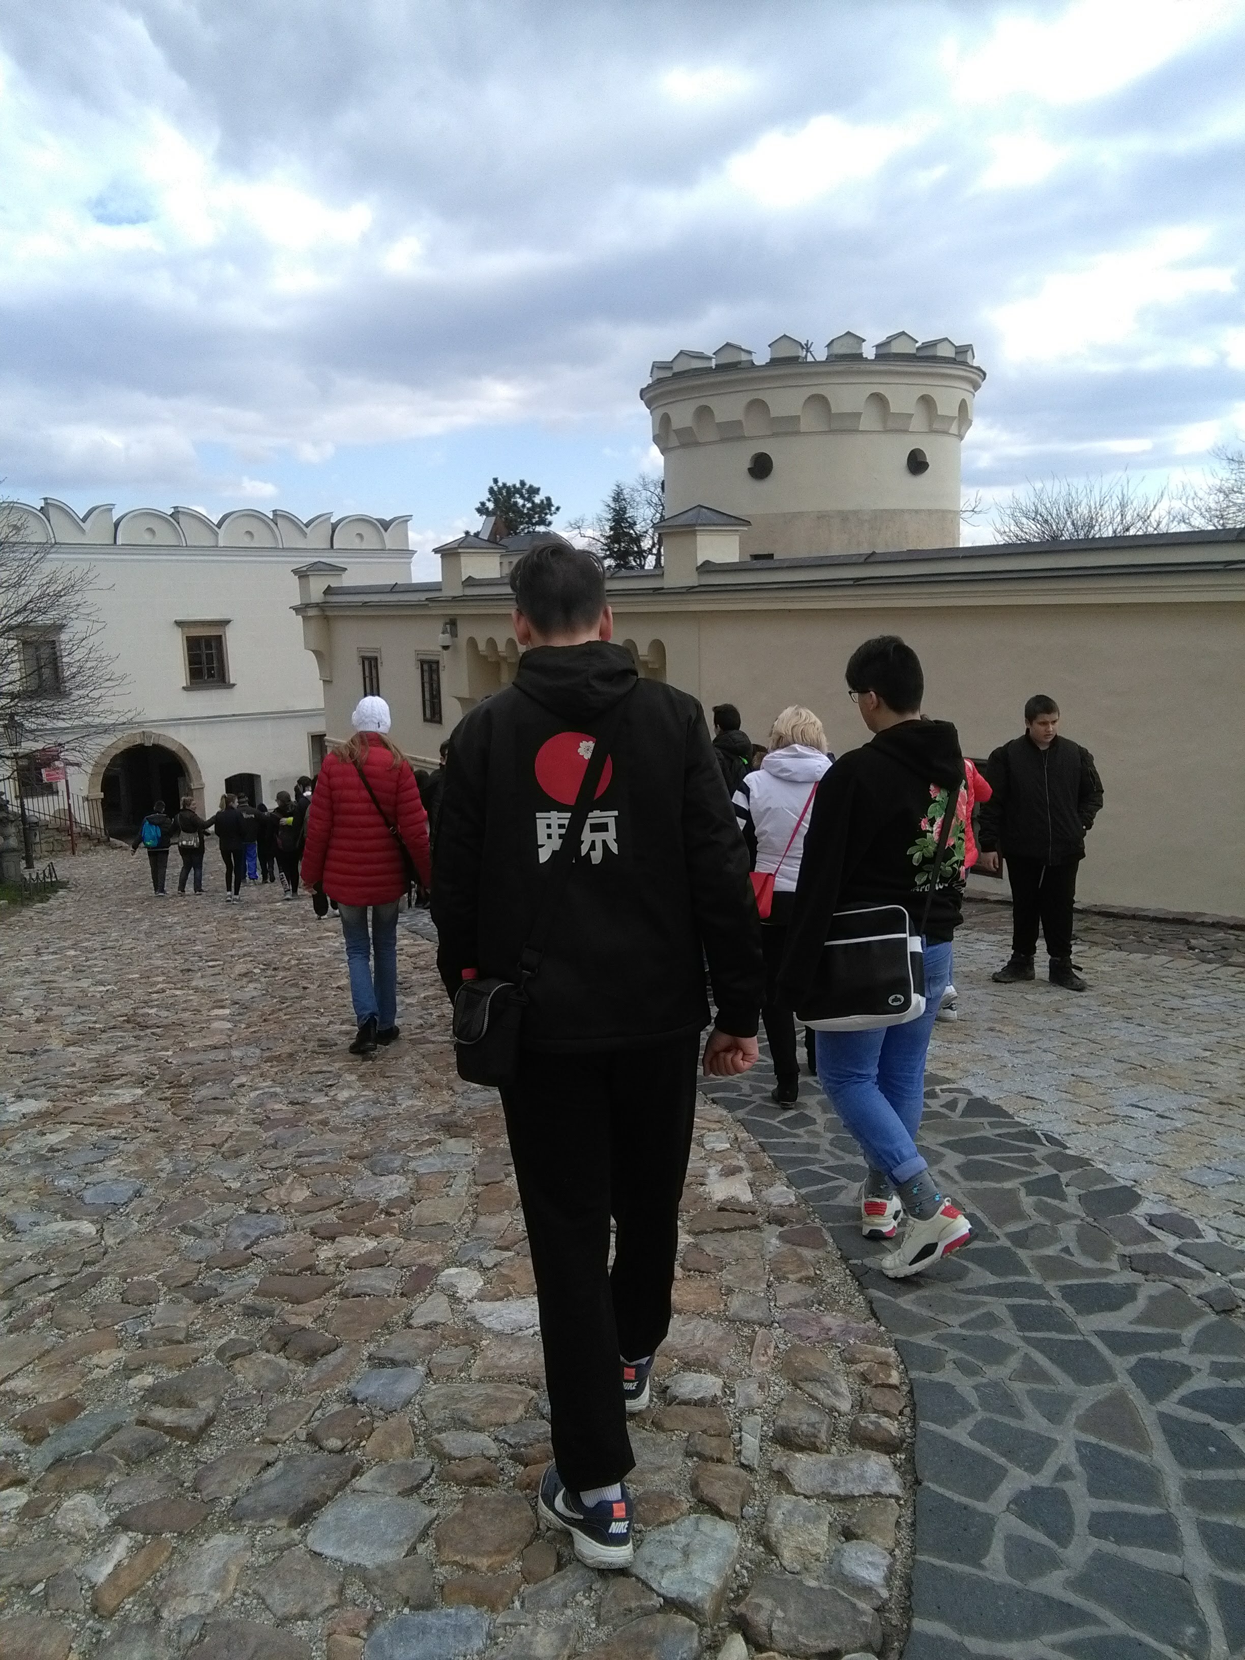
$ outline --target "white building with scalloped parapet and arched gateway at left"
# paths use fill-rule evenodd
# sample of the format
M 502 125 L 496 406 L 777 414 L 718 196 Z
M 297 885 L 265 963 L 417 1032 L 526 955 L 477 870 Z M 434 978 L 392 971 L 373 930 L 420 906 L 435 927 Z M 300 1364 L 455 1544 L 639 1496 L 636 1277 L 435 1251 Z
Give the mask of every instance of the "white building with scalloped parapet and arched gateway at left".
M 121 701 L 134 719 L 103 745 L 71 745 L 70 788 L 116 832 L 156 797 L 171 805 L 189 790 L 214 812 L 226 785 L 272 800 L 315 770 L 324 694 L 289 609 L 292 568 L 349 558 L 369 583 L 410 578 L 405 518 L 304 523 L 242 508 L 214 521 L 193 508 L 115 516 L 111 506 L 80 518 L 45 500 L 10 505 L 5 520 L 8 536 L 95 573 L 103 649 L 128 677 Z M 23 744 L 37 750 L 40 734 Z M 27 790 L 38 788 L 28 770 Z

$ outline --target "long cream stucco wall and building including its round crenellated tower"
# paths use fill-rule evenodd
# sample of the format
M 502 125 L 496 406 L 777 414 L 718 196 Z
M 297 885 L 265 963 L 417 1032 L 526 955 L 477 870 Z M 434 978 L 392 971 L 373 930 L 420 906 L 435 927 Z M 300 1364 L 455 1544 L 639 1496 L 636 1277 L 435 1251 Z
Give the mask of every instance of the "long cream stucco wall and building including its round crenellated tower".
M 862 347 L 838 335 L 813 360 L 782 335 L 764 365 L 734 345 L 654 364 L 662 568 L 609 578 L 614 639 L 642 676 L 737 704 L 759 742 L 784 706 L 810 706 L 838 752 L 867 739 L 843 667 L 873 634 L 916 647 L 926 710 L 976 757 L 1049 692 L 1106 784 L 1081 898 L 1245 916 L 1245 530 L 961 548 L 973 349 Z M 375 674 L 395 735 L 432 760 L 513 679 L 513 549 L 461 536 L 438 553 L 440 583 L 304 566 L 330 734 Z

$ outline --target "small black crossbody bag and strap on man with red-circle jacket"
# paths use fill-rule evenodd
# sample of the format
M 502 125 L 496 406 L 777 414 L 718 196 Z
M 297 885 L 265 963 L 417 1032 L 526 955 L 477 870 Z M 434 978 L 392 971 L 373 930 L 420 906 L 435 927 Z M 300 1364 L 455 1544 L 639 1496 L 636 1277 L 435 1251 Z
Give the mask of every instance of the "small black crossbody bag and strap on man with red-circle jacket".
M 528 981 L 540 973 L 549 928 L 579 853 L 588 813 L 596 800 L 596 787 L 601 782 L 609 759 L 609 745 L 629 696 L 631 692 L 626 692 L 619 697 L 593 739 L 593 754 L 571 808 L 571 820 L 558 852 L 553 855 L 536 915 L 520 951 L 518 981 L 465 979 L 455 993 L 453 1051 L 458 1076 L 465 1077 L 468 1084 L 491 1084 L 496 1089 L 501 1084 L 513 1084 L 518 1076 L 520 1029 L 528 1004 Z

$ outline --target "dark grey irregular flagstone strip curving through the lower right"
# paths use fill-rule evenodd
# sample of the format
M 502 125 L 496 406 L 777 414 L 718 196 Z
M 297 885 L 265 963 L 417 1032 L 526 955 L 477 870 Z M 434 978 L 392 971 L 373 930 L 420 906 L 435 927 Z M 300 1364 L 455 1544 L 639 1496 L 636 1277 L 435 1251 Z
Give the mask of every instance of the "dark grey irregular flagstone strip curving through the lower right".
M 940 1064 L 981 1052 L 974 954 L 958 943 L 956 959 L 974 1019 L 936 1028 Z M 1089 998 L 1069 1001 L 1079 1014 Z M 793 1111 L 770 1104 L 769 1062 L 712 1087 L 827 1223 L 903 1356 L 920 1477 L 905 1660 L 1238 1660 L 1245 1321 L 1215 1313 L 1230 1285 L 1179 1255 L 1202 1230 L 1006 1107 L 930 1086 L 925 1150 L 976 1242 L 898 1283 L 860 1237 L 863 1164 L 813 1081 Z M 1223 1250 L 1202 1242 L 1240 1267 Z

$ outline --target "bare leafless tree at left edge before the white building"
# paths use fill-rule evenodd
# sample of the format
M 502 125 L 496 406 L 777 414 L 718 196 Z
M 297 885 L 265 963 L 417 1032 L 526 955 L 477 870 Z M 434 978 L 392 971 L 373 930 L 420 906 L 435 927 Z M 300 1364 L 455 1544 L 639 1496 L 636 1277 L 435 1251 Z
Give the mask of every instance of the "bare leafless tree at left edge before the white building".
M 0 500 L 0 742 L 13 759 L 58 749 L 75 760 L 134 719 L 95 583 L 93 566 L 32 541 L 17 505 Z

